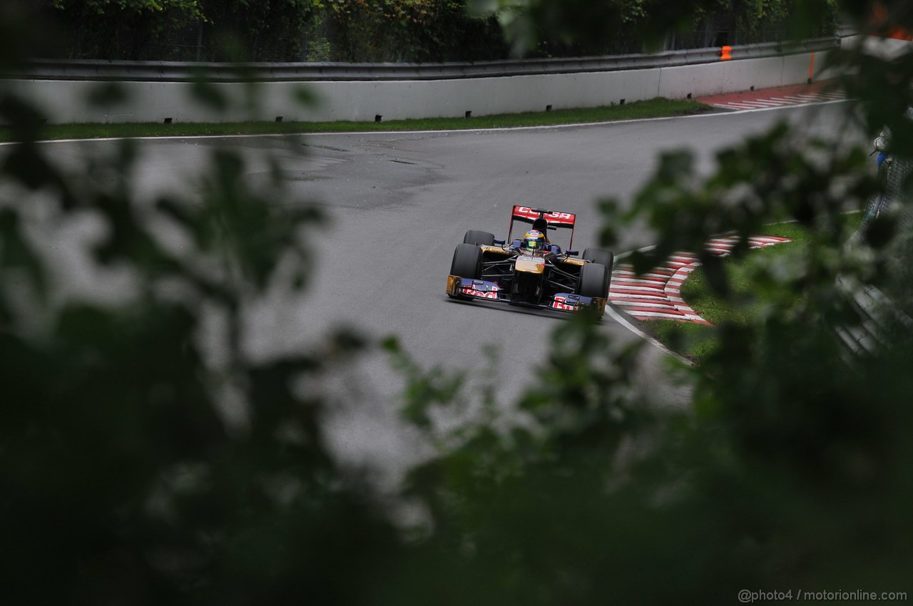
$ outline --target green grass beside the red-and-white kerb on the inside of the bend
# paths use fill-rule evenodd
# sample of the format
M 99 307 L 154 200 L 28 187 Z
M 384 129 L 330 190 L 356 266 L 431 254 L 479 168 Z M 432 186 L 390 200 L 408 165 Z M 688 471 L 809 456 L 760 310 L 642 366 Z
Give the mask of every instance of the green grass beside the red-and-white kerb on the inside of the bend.
M 862 213 L 845 214 L 845 230 L 849 233 L 862 221 Z M 769 246 L 751 251 L 740 259 L 726 257 L 723 265 L 729 278 L 732 298 L 723 300 L 711 290 L 704 271 L 698 267 L 682 284 L 681 296 L 688 306 L 711 324 L 731 322 L 748 324 L 756 318 L 761 309 L 771 303 L 763 293 L 755 289 L 750 280 L 750 267 L 759 260 L 764 261 L 789 256 L 802 256 L 808 246 L 810 234 L 803 226 L 794 223 L 768 225 L 763 235 L 777 235 L 790 238 L 792 242 Z M 798 295 L 801 296 L 801 295 Z M 732 300 L 749 301 L 743 306 L 734 305 Z M 716 346 L 716 332 L 713 327 L 677 322 L 674 320 L 648 320 L 642 326 L 670 350 L 700 363 Z

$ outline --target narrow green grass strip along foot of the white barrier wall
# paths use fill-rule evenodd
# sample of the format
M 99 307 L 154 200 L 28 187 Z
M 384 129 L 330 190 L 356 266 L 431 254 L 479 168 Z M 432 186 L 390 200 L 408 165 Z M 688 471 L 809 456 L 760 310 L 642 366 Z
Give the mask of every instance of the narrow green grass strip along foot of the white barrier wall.
M 698 101 L 650 99 L 624 105 L 577 110 L 498 114 L 477 118 L 428 118 L 387 122 L 173 122 L 171 124 L 47 124 L 40 139 L 98 139 L 122 137 L 191 137 L 200 135 L 307 134 L 351 131 L 460 131 L 523 126 L 552 126 L 578 122 L 604 122 L 685 116 L 712 110 Z M 14 133 L 0 127 L 0 141 L 13 141 Z

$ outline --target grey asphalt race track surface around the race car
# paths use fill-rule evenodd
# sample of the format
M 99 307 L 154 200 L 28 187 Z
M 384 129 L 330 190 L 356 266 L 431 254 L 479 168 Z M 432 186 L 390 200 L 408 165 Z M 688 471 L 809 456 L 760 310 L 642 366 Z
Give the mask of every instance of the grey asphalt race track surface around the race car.
M 255 355 L 315 347 L 328 328 L 345 324 L 381 337 L 398 334 L 426 367 L 484 371 L 482 350 L 499 350 L 498 391 L 509 399 L 523 390 L 546 354 L 548 336 L 564 320 L 507 306 L 451 301 L 444 294 L 454 247 L 467 229 L 504 237 L 512 204 L 576 213 L 574 247 L 595 245 L 599 231 L 593 202 L 614 196 L 626 202 L 655 166 L 658 151 L 689 147 L 711 166 L 713 151 L 792 120 L 818 134 L 844 131 L 844 103 L 756 112 L 717 113 L 666 120 L 518 131 L 457 131 L 279 137 L 146 140 L 137 188 L 142 195 L 196 187 L 183 175 L 225 145 L 251 159 L 256 183 L 266 169 L 264 150 L 286 159 L 295 197 L 320 204 L 331 225 L 310 236 L 320 251 L 308 292 L 277 297 L 252 318 L 248 339 Z M 307 155 L 294 149 L 306 144 Z M 113 145 L 110 141 L 50 143 L 51 155 L 78 166 Z M 0 148 L 0 155 L 3 148 Z M 624 234 L 616 253 L 651 244 L 645 230 Z M 79 290 L 79 272 L 72 287 Z M 606 316 L 601 329 L 619 343 L 639 339 Z M 687 393 L 666 380 L 665 354 L 644 349 L 645 397 L 683 405 Z M 399 428 L 389 396 L 402 387 L 381 355 L 341 369 L 326 386 L 350 402 L 335 415 L 334 439 L 354 461 L 381 462 L 384 470 L 414 460 L 416 446 Z

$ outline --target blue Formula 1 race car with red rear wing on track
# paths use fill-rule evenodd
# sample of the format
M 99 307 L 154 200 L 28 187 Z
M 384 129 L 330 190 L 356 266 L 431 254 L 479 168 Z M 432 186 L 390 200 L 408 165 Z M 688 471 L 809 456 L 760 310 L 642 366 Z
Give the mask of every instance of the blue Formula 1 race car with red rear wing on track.
M 575 214 L 542 208 L 514 206 L 506 240 L 493 234 L 469 230 L 463 244 L 456 245 L 447 296 L 496 301 L 530 308 L 578 311 L 594 308 L 605 312 L 614 256 L 602 248 L 586 248 L 582 256 L 573 246 Z M 513 238 L 514 223 L 531 224 L 532 230 Z M 571 230 L 569 249 L 551 244 L 550 231 Z M 533 234 L 533 238 L 528 238 Z M 544 237 L 540 237 L 544 236 Z M 528 239 L 544 241 L 541 246 Z

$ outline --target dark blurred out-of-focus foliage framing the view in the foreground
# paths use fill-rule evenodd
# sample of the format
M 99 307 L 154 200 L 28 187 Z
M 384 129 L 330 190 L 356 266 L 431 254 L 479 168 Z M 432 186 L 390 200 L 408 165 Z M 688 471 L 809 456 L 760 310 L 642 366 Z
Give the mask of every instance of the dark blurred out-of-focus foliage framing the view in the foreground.
M 897 25 L 913 26 L 905 15 Z M 19 23 L 0 19 L 7 63 L 30 44 Z M 895 153 L 913 155 L 913 54 L 840 60 L 863 67 L 844 83 L 860 98 L 847 120 L 889 124 Z M 134 187 L 131 142 L 64 172 L 34 142 L 42 116 L 6 89 L 0 119 L 20 141 L 0 164 L 0 601 L 732 603 L 742 589 L 911 590 L 909 332 L 852 360 L 833 332 L 858 321 L 836 276 L 907 278 L 883 262 L 909 258 L 897 229 L 847 248 L 834 220 L 875 191 L 862 149 L 780 126 L 721 151 L 707 176 L 685 151 L 659 159 L 628 217 L 656 228 L 644 266 L 770 217 L 817 234 L 800 262 L 758 276 L 781 305 L 718 327 L 717 354 L 689 374 L 687 411 L 633 397 L 636 348 L 581 318 L 551 338 L 541 384 L 518 402 L 529 423 L 495 423 L 489 397 L 476 421 L 441 435 L 436 411 L 468 403 L 461 375 L 386 342 L 409 380 L 407 418 L 440 445 L 408 476 L 404 502 L 425 523 L 404 529 L 322 430 L 320 385 L 371 344 L 344 332 L 312 344 L 320 357 L 266 360 L 246 345 L 257 303 L 306 284 L 302 230 L 320 220 L 283 197 L 278 159 L 257 160 L 272 178 L 255 190 L 239 178 L 253 161 L 215 150 L 198 196 L 150 200 Z M 616 208 L 601 205 L 606 225 Z M 110 281 L 121 287 L 93 288 Z M 715 287 L 726 296 L 724 274 Z

